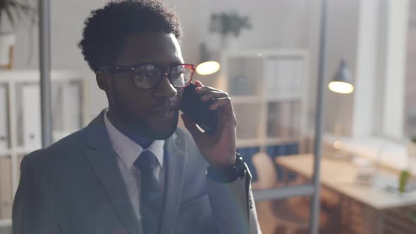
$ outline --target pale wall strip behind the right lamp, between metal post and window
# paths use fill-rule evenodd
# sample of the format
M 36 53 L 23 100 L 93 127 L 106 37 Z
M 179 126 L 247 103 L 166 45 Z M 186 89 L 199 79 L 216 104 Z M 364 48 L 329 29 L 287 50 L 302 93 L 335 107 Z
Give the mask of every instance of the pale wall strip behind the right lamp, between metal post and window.
M 359 9 L 360 0 L 328 1 L 327 82 L 336 73 L 341 58 L 347 61 L 355 78 Z M 326 131 L 350 135 L 353 119 L 353 95 L 336 94 L 326 89 L 326 101 Z M 339 126 L 337 129 L 336 125 Z

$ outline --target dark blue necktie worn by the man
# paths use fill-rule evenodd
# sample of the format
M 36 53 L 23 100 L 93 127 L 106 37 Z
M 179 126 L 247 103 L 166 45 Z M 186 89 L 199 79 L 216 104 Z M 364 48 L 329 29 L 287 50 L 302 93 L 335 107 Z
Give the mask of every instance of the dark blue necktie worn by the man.
M 141 172 L 140 192 L 142 200 L 140 203 L 140 214 L 144 234 L 157 234 L 161 218 L 162 192 L 154 176 L 154 168 L 157 166 L 156 156 L 149 151 L 144 151 L 134 163 Z

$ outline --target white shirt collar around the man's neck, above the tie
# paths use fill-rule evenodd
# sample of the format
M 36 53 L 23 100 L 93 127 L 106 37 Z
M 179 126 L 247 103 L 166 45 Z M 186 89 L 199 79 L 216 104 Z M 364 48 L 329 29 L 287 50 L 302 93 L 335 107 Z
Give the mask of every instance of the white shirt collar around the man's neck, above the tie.
M 159 165 L 163 167 L 164 163 L 164 140 L 154 140 L 152 144 L 147 147 L 147 149 L 143 149 L 140 144 L 137 144 L 129 137 L 121 133 L 109 120 L 107 116 L 107 111 L 104 113 L 104 125 L 106 126 L 106 130 L 109 133 L 111 145 L 113 146 L 114 152 L 118 155 L 118 157 L 123 161 L 123 164 L 127 168 L 131 168 L 134 162 L 137 160 L 139 155 L 144 150 L 149 150 L 152 152 L 159 162 Z

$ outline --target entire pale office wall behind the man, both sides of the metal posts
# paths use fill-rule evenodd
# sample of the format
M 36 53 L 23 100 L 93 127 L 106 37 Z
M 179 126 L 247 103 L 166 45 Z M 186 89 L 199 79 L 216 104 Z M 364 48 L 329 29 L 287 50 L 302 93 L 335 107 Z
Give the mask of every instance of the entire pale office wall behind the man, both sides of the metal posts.
M 83 20 L 90 10 L 102 6 L 104 0 L 54 0 L 51 1 L 51 51 L 52 68 L 73 69 L 90 78 L 91 118 L 106 106 L 106 99 L 95 84 L 94 74 L 87 68 L 76 43 L 80 40 Z M 275 0 L 275 1 L 238 1 L 238 0 L 169 0 L 169 4 L 178 11 L 183 27 L 183 54 L 185 61 L 198 62 L 200 42 L 209 41 L 209 16 L 212 12 L 236 9 L 241 15 L 250 16 L 252 30 L 240 35 L 240 48 L 306 48 L 310 49 L 310 125 L 314 120 L 314 99 L 317 76 L 317 52 L 319 42 L 319 0 Z M 327 76 L 336 70 L 338 61 L 346 58 L 355 72 L 355 51 L 357 47 L 357 16 L 359 0 L 329 1 L 329 20 L 327 38 Z M 27 29 L 18 28 L 16 68 L 37 68 L 38 52 L 27 63 L 29 42 L 37 46 L 37 33 L 27 36 Z M 351 97 L 337 97 L 327 93 L 326 130 L 331 130 L 334 120 L 331 118 L 341 111 L 343 129 L 348 133 L 352 109 Z M 340 106 L 343 106 L 340 108 Z M 329 117 L 329 118 L 328 118 Z

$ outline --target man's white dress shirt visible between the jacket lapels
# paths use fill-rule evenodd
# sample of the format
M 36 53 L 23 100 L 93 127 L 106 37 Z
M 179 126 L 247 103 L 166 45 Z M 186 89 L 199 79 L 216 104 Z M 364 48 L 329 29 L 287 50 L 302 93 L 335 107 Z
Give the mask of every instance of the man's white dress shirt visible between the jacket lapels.
M 117 154 L 118 168 L 120 168 L 121 176 L 123 176 L 124 183 L 127 187 L 128 196 L 131 204 L 135 210 L 137 219 L 141 221 L 140 216 L 140 169 L 134 166 L 134 162 L 144 150 L 149 150 L 157 157 L 159 164 L 154 168 L 154 176 L 159 180 L 161 189 L 164 188 L 164 175 L 166 169 L 164 168 L 164 140 L 155 140 L 152 144 L 143 149 L 139 144 L 131 140 L 129 137 L 121 133 L 111 123 L 104 114 L 104 124 L 109 133 L 110 142 L 113 146 L 114 152 Z

